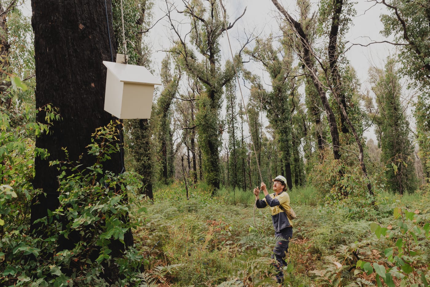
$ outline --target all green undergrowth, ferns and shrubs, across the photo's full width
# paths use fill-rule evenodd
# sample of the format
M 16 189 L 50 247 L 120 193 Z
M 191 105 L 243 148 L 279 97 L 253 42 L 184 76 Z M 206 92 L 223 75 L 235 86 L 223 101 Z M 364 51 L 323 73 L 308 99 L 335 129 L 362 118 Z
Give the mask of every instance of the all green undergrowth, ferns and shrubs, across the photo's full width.
M 55 110 L 44 112 L 55 119 Z M 0 186 L 2 285 L 274 286 L 270 212 L 253 209 L 252 192 L 221 188 L 213 195 L 200 183 L 188 189 L 187 200 L 185 185 L 176 181 L 158 186 L 154 200 L 147 200 L 137 194 L 138 175 L 103 170 L 104 160 L 117 150 L 114 123 L 93 135 L 88 148 L 95 164 L 87 172 L 80 172 L 79 162 L 51 162 L 62 171 L 60 204 L 40 220 L 45 236 L 31 233 L 30 203 L 40 191 L 30 184 L 34 156 L 28 153 L 34 150 L 33 138 L 49 126 L 11 127 L 9 122 L 5 116 L 0 137 L 0 159 L 7 164 Z M 347 197 L 337 187 L 289 191 L 298 218 L 284 285 L 428 286 L 428 190 L 393 195 L 374 181 L 371 197 L 354 168 L 335 180 L 335 186 L 348 190 Z M 130 230 L 135 245 L 113 256 L 118 250 L 109 246 L 124 242 Z M 81 239 L 61 249 L 59 240 L 71 236 Z M 116 282 L 104 281 L 107 266 L 119 270 Z

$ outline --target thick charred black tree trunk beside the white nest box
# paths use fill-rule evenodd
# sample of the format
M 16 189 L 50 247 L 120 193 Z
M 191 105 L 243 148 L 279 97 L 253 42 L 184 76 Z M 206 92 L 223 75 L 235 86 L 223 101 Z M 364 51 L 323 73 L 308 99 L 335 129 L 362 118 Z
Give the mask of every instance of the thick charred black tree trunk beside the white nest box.
M 58 207 L 58 180 L 56 167 L 49 160 L 66 160 L 63 147 L 67 147 L 68 160 L 91 166 L 94 158 L 87 154 L 91 134 L 96 128 L 107 125 L 113 116 L 103 110 L 106 68 L 103 60 L 113 60 L 116 45 L 110 18 L 111 6 L 107 1 L 93 0 L 32 0 L 32 26 L 36 63 L 36 108 L 51 104 L 59 108 L 62 120 L 55 122 L 52 133 L 43 134 L 36 140 L 36 147 L 47 149 L 48 159 L 35 160 L 34 187 L 46 193 L 34 198 L 31 207 L 31 228 L 40 224 L 34 221 L 47 215 L 47 210 Z M 108 16 L 108 19 L 107 19 Z M 37 121 L 46 122 L 43 112 Z M 124 167 L 123 153 L 111 154 L 103 163 L 104 170 L 116 174 Z M 36 204 L 37 203 L 37 204 Z M 43 232 L 43 231 L 42 231 Z M 62 238 L 62 247 L 74 246 L 74 238 Z M 131 245 L 129 232 L 125 244 Z M 124 244 L 115 241 L 109 247 L 111 256 L 120 256 Z M 115 270 L 107 268 L 107 278 L 117 277 Z

